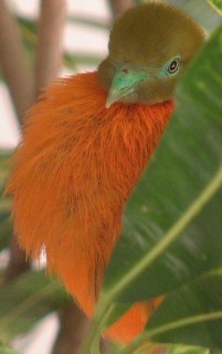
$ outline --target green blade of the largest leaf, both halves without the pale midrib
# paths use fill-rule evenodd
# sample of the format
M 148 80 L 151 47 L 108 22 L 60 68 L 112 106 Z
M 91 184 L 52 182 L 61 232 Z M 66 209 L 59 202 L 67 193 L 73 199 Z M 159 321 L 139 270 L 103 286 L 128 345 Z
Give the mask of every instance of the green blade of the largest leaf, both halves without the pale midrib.
M 125 228 L 107 269 L 108 293 L 161 242 L 212 181 L 222 164 L 222 28 L 207 43 L 178 90 L 178 107 L 125 212 Z M 214 67 L 214 72 L 212 72 Z M 171 291 L 222 263 L 221 191 L 154 267 L 121 289 L 136 301 Z

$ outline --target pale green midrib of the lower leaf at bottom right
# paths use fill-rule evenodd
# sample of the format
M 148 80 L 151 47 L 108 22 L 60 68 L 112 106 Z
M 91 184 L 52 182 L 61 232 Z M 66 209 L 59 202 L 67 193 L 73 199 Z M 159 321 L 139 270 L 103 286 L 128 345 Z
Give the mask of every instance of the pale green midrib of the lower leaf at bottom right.
M 124 348 L 120 352 L 120 354 L 133 354 L 137 347 L 142 345 L 146 341 L 150 341 L 155 335 L 162 334 L 162 333 L 172 331 L 175 329 L 186 327 L 200 322 L 209 322 L 209 321 L 221 320 L 221 319 L 222 319 L 222 311 L 218 311 L 218 312 L 211 312 L 205 314 L 199 314 L 192 317 L 186 317 L 186 319 L 181 319 L 181 320 L 177 320 L 177 321 L 163 324 L 159 327 L 149 330 L 138 335 L 126 348 Z

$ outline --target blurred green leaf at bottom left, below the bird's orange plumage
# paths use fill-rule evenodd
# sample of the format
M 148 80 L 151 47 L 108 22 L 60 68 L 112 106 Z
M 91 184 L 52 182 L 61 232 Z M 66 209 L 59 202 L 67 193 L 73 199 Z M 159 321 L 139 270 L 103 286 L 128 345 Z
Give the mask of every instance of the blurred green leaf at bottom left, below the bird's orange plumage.
M 70 296 L 45 271 L 29 271 L 0 288 L 0 340 L 6 343 L 60 309 Z

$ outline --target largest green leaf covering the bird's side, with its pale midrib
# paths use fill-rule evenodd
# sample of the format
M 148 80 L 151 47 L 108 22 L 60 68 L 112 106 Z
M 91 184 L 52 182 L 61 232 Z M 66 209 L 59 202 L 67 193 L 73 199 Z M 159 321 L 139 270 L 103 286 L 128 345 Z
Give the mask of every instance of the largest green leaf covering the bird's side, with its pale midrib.
M 194 296 L 194 285 L 190 288 L 191 281 L 197 284 L 208 272 L 222 267 L 221 43 L 222 27 L 203 46 L 178 88 L 176 114 L 126 208 L 124 232 L 108 266 L 82 353 L 91 347 L 97 331 L 110 323 L 113 314 L 116 317 L 116 301 L 134 302 L 159 294 L 169 301 L 176 296 L 175 315 L 182 306 L 178 298 L 190 300 L 189 315 L 197 315 L 198 304 L 201 321 L 211 320 L 209 325 L 213 327 L 204 325 L 208 344 L 221 345 L 220 337 L 213 337 L 218 322 L 222 332 L 221 302 L 209 313 L 201 294 Z M 208 283 L 210 290 L 211 285 L 213 279 Z M 212 298 L 221 296 L 220 291 L 212 292 Z M 205 296 L 207 302 L 211 300 L 209 292 Z M 166 323 L 172 317 L 166 314 Z M 180 341 L 187 343 L 187 333 L 182 333 Z M 204 334 L 195 344 L 205 344 Z

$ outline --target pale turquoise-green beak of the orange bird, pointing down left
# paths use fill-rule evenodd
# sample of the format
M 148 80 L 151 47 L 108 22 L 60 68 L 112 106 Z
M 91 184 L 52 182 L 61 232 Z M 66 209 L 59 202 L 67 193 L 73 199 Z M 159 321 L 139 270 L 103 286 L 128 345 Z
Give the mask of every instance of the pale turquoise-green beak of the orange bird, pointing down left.
M 147 79 L 148 74 L 144 71 L 137 72 L 125 67 L 117 69 L 106 100 L 106 108 L 135 92 L 138 84 Z

